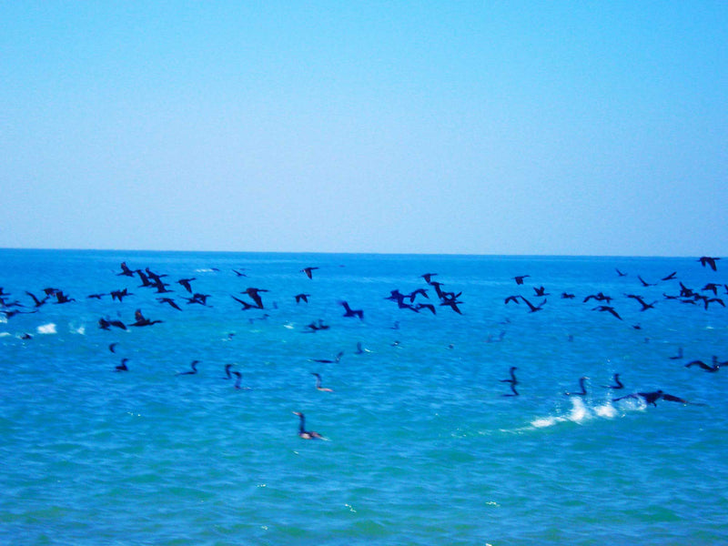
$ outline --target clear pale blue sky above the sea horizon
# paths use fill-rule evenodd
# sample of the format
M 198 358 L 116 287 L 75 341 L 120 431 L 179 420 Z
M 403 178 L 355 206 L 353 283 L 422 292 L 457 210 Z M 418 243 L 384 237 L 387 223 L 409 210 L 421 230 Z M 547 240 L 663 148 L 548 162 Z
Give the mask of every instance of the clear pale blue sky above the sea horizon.
M 728 4 L 0 0 L 0 248 L 728 256 Z

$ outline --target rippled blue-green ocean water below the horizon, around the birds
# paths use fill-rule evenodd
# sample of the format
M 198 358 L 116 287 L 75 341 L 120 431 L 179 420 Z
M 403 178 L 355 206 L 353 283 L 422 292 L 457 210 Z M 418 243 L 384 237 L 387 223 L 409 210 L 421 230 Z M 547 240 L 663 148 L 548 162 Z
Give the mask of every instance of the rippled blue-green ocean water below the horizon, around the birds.
M 680 283 L 728 298 L 722 266 L 0 250 L 0 542 L 723 544 L 728 370 L 685 364 L 728 360 L 728 309 L 672 298 Z M 74 300 L 35 308 L 26 291 L 44 288 Z M 247 288 L 267 290 L 263 308 L 232 298 L 252 304 Z M 434 314 L 387 299 L 419 288 L 403 303 Z M 612 299 L 583 301 L 599 293 Z M 132 327 L 136 309 L 162 322 Z M 504 396 L 511 367 L 519 396 Z M 604 387 L 615 373 L 624 389 Z M 582 377 L 587 395 L 566 396 Z M 657 389 L 690 403 L 612 401 Z M 325 440 L 299 438 L 294 411 Z

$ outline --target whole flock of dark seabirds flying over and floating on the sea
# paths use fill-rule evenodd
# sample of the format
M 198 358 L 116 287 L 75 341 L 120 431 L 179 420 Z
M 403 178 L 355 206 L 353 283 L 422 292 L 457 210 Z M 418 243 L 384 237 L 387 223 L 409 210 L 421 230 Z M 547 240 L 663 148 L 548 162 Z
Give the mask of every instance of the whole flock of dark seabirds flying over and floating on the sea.
M 716 262 L 720 258 L 713 258 L 713 257 L 702 257 L 699 258 L 699 262 L 703 265 L 703 267 L 711 268 L 713 271 L 717 270 Z M 314 271 L 319 269 L 318 267 L 307 267 L 300 270 L 301 273 L 303 273 L 308 279 L 314 278 Z M 245 269 L 238 270 L 233 269 L 235 274 L 238 277 L 247 277 L 247 274 L 245 273 Z M 622 272 L 620 269 L 616 269 L 616 273 L 620 277 L 626 277 L 627 274 Z M 143 288 L 146 290 L 149 290 L 155 295 L 155 298 L 157 299 L 157 302 L 159 305 L 167 305 L 171 308 L 174 308 L 178 311 L 182 310 L 182 307 L 180 307 L 181 301 L 186 301 L 187 305 L 198 305 L 203 307 L 211 307 L 208 300 L 211 298 L 211 295 L 205 294 L 202 292 L 198 292 L 196 289 L 193 288 L 193 282 L 197 280 L 197 278 L 194 277 L 187 277 L 187 278 L 179 278 L 175 281 L 175 284 L 179 285 L 181 288 L 184 289 L 184 296 L 177 297 L 177 294 L 175 292 L 174 288 L 172 287 L 172 284 L 170 282 L 167 282 L 168 275 L 157 273 L 155 271 L 152 271 L 150 268 L 136 268 L 132 269 L 129 268 L 126 265 L 126 262 L 122 262 L 120 264 L 120 272 L 116 274 L 119 277 L 126 277 L 126 278 L 138 278 L 140 283 L 137 288 Z M 426 283 L 426 288 L 417 288 L 413 291 L 409 292 L 402 292 L 399 289 L 393 289 L 390 291 L 389 296 L 384 297 L 384 299 L 394 302 L 397 305 L 397 308 L 403 309 L 406 311 L 411 311 L 413 313 L 421 313 L 426 312 L 430 313 L 432 315 L 436 315 L 440 308 L 449 308 L 451 311 L 454 311 L 457 314 L 462 315 L 462 309 L 461 306 L 463 305 L 463 301 L 460 299 L 462 295 L 462 291 L 449 291 L 446 290 L 444 287 L 445 285 L 442 282 L 439 282 L 435 278 L 437 277 L 437 273 L 425 273 L 420 276 L 420 278 L 423 278 Z M 515 284 L 517 287 L 523 287 L 525 285 L 525 279 L 530 278 L 530 275 L 519 275 L 515 276 L 512 279 L 515 281 Z M 657 286 L 657 282 L 648 282 L 644 280 L 641 276 L 637 277 L 640 285 L 642 288 L 647 287 L 653 287 Z M 721 306 L 725 307 L 725 303 L 723 301 L 723 298 L 719 297 L 719 288 L 724 288 L 725 294 L 728 294 L 728 285 L 723 284 L 717 284 L 717 283 L 708 283 L 703 288 L 689 288 L 685 286 L 682 281 L 678 278 L 677 272 L 672 272 L 669 275 L 662 277 L 660 279 L 662 282 L 672 282 L 677 281 L 679 291 L 675 293 L 666 293 L 663 292 L 662 296 L 665 300 L 675 300 L 679 301 L 686 305 L 694 305 L 694 306 L 701 306 L 704 309 L 708 309 L 713 306 Z M 542 311 L 547 307 L 548 297 L 551 296 L 551 294 L 548 292 L 547 288 L 544 288 L 543 286 L 539 287 L 533 287 L 532 288 L 534 293 L 532 295 L 533 298 L 543 298 L 540 302 L 534 304 L 532 303 L 528 298 L 525 298 L 521 294 L 514 294 L 511 296 L 508 296 L 505 298 L 504 303 L 507 306 L 510 306 L 511 304 L 520 305 L 521 302 L 526 305 L 529 312 L 535 313 L 538 311 Z M 238 304 L 241 306 L 241 310 L 247 311 L 249 309 L 266 309 L 266 302 L 264 301 L 264 294 L 268 292 L 268 289 L 265 288 L 246 288 L 245 290 L 242 290 L 239 294 L 236 295 L 230 295 L 230 297 L 238 302 Z M 430 295 L 434 292 L 434 297 L 430 298 Z M 170 296 L 170 294 L 175 293 L 175 297 Z M 30 302 L 27 304 L 13 298 L 12 294 L 9 292 L 6 292 L 4 288 L 0 288 L 0 313 L 5 315 L 6 319 L 12 319 L 16 315 L 19 314 L 27 314 L 27 313 L 36 313 L 41 310 L 45 305 L 66 305 L 70 304 L 76 301 L 75 298 L 70 297 L 63 289 L 60 288 L 43 288 L 42 295 L 36 296 L 33 292 L 25 291 L 25 295 L 30 298 Z M 110 290 L 109 292 L 105 293 L 94 293 L 88 295 L 86 298 L 89 299 L 102 299 L 106 296 L 110 297 L 112 300 L 116 300 L 118 302 L 123 302 L 126 298 L 131 298 L 135 296 L 133 292 L 129 291 L 129 288 L 117 288 L 114 290 Z M 651 309 L 655 308 L 655 305 L 657 305 L 659 302 L 657 300 L 648 302 L 645 298 L 643 298 L 641 295 L 638 294 L 624 294 L 625 298 L 631 299 L 635 301 L 637 304 L 639 304 L 640 312 L 646 312 Z M 297 304 L 300 303 L 308 303 L 308 298 L 311 298 L 311 294 L 308 293 L 298 293 L 294 295 L 295 301 Z M 436 298 L 436 299 L 435 299 Z M 562 299 L 575 299 L 576 296 L 574 294 L 571 294 L 569 292 L 562 292 L 561 293 Z M 612 315 L 613 318 L 622 320 L 622 316 L 618 312 L 618 310 L 612 305 L 612 301 L 615 298 L 612 298 L 612 296 L 604 294 L 602 291 L 597 292 L 595 294 L 589 294 L 585 296 L 582 299 L 582 303 L 587 304 L 591 301 L 596 302 L 596 306 L 591 308 L 591 310 L 598 311 L 598 312 L 606 312 Z M 339 300 L 339 305 L 343 308 L 343 315 L 344 318 L 351 318 L 351 319 L 364 319 L 364 310 L 359 308 L 351 308 L 348 301 L 345 300 Z M 274 308 L 277 306 L 276 303 L 273 304 Z M 264 315 L 262 319 L 265 319 L 266 316 Z M 251 319 L 253 320 L 253 319 Z M 104 330 L 111 330 L 111 329 L 123 329 L 126 330 L 128 328 L 145 328 L 145 327 L 151 327 L 156 324 L 161 323 L 162 320 L 160 319 L 147 319 L 147 317 L 143 314 L 141 308 L 136 308 L 136 311 L 134 313 L 134 320 L 131 322 L 124 322 L 121 319 L 113 319 L 110 318 L 108 315 L 101 317 L 98 319 L 98 328 L 104 329 Z M 395 326 L 393 328 L 397 329 L 399 326 L 399 322 L 395 322 Z M 634 329 L 640 329 L 641 327 L 639 325 L 633 325 L 632 328 Z M 304 331 L 307 333 L 316 333 L 319 330 L 326 330 L 329 329 L 329 325 L 327 325 L 323 319 L 318 319 L 310 324 L 308 324 Z M 232 337 L 234 334 L 229 334 L 230 337 Z M 32 339 L 32 336 L 29 333 L 23 333 L 20 336 L 22 339 Z M 502 333 L 501 333 L 501 339 L 502 339 Z M 395 342 L 397 344 L 397 342 Z M 117 342 L 111 343 L 108 348 L 112 353 L 116 353 L 116 346 L 118 345 Z M 363 349 L 361 347 L 361 344 L 358 344 L 357 352 L 363 353 L 367 352 L 367 349 Z M 339 362 L 339 359 L 343 356 L 343 352 L 339 351 L 339 353 L 336 355 L 334 359 L 311 359 L 313 362 L 318 363 L 336 363 Z M 680 349 L 678 355 L 672 357 L 672 359 L 682 359 L 682 349 Z M 124 358 L 121 360 L 121 363 L 116 366 L 114 371 L 116 372 L 127 372 L 129 370 L 128 367 L 128 359 Z M 199 364 L 199 360 L 193 360 L 190 364 L 190 369 L 187 371 L 178 372 L 177 375 L 195 375 L 197 374 L 197 365 Z M 684 366 L 686 368 L 696 368 L 696 369 L 702 369 L 705 372 L 715 373 L 719 369 L 721 369 L 723 366 L 728 365 L 728 360 L 726 361 L 720 361 L 717 356 L 713 356 L 713 360 L 710 364 L 704 362 L 701 359 L 695 359 L 691 360 L 690 362 L 686 363 Z M 240 372 L 236 370 L 232 370 L 231 367 L 232 364 L 227 364 L 225 366 L 225 377 L 224 379 L 232 379 L 233 377 L 236 378 L 234 387 L 235 389 L 242 389 L 241 387 L 241 374 Z M 509 378 L 507 379 L 500 379 L 503 383 L 508 383 L 510 385 L 510 392 L 503 394 L 504 397 L 517 397 L 520 396 L 520 392 L 517 389 L 518 385 L 520 384 L 518 378 L 516 377 L 516 370 L 518 368 L 516 366 L 511 366 L 511 369 L 509 371 Z M 322 379 L 318 372 L 311 372 L 311 374 L 315 378 L 315 387 L 319 391 L 324 392 L 333 392 L 332 389 L 325 388 L 322 385 Z M 579 379 L 580 384 L 580 390 L 576 391 L 567 391 L 564 392 L 565 396 L 576 396 L 576 397 L 585 397 L 587 396 L 587 389 L 586 389 L 586 383 L 585 381 L 589 379 L 587 377 L 581 377 Z M 613 389 L 614 391 L 618 391 L 621 389 L 624 389 L 624 384 L 622 383 L 622 380 L 620 379 L 620 374 L 614 374 L 613 376 L 613 384 L 612 385 L 604 385 L 602 386 L 605 389 Z M 638 392 L 632 392 L 626 395 L 622 395 L 619 397 L 615 397 L 612 399 L 612 401 L 619 401 L 623 399 L 642 399 L 646 404 L 656 406 L 656 402 L 660 399 L 666 400 L 666 401 L 674 401 L 674 402 L 680 402 L 682 404 L 689 404 L 694 402 L 689 402 L 686 399 L 682 399 L 681 397 L 674 396 L 672 394 L 666 393 L 662 391 L 662 389 L 657 389 L 653 391 L 638 391 Z M 317 440 L 322 439 L 323 436 L 319 434 L 319 432 L 312 431 L 312 430 L 306 430 L 306 418 L 303 413 L 299 411 L 295 411 L 294 414 L 298 416 L 298 436 L 305 440 Z

